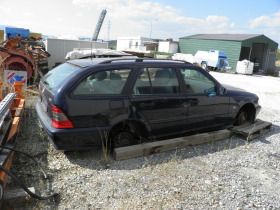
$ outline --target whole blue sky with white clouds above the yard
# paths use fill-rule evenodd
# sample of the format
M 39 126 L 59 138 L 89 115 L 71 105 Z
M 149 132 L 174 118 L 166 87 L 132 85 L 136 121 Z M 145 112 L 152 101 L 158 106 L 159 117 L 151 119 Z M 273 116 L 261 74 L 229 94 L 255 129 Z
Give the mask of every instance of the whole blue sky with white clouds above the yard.
M 100 12 L 107 9 L 100 39 L 151 34 L 152 38 L 178 40 L 197 33 L 248 33 L 265 34 L 280 43 L 280 0 L 12 2 L 1 0 L 1 25 L 29 28 L 46 35 L 91 37 Z

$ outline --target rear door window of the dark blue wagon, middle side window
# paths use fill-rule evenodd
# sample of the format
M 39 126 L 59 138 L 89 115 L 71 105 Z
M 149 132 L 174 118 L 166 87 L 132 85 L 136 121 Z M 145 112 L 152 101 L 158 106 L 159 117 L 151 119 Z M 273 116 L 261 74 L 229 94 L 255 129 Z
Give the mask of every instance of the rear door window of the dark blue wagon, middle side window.
M 134 95 L 179 93 L 179 82 L 172 68 L 143 68 L 133 88 Z

